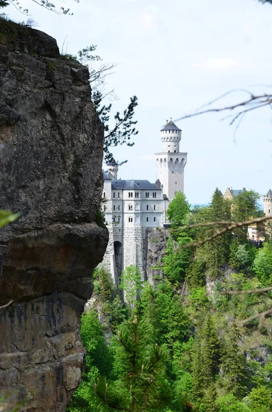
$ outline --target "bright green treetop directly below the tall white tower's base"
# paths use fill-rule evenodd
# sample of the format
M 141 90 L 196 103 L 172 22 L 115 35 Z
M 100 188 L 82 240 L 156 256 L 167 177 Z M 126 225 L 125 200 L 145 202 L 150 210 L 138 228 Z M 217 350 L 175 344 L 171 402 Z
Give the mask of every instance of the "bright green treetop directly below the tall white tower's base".
M 171 201 L 166 215 L 171 222 L 172 227 L 180 227 L 185 224 L 186 215 L 190 211 L 190 205 L 186 196 L 182 192 L 177 192 L 173 201 Z

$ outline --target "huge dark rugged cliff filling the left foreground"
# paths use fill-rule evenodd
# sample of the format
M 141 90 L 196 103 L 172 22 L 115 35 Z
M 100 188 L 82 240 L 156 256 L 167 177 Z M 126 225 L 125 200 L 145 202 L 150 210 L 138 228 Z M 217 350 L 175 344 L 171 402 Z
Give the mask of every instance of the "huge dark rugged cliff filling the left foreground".
M 0 20 L 0 396 L 65 411 L 79 385 L 79 321 L 108 231 L 99 223 L 103 126 L 88 69 L 45 33 Z M 99 226 L 100 224 L 100 226 Z

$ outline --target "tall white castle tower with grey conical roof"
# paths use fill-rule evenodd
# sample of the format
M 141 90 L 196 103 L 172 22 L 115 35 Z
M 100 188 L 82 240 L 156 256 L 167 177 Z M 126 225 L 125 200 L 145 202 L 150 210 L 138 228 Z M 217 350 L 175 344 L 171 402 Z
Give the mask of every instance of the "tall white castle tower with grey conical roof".
M 184 167 L 187 153 L 180 152 L 182 130 L 175 123 L 166 121 L 160 130 L 162 152 L 156 153 L 158 179 L 163 185 L 163 193 L 172 201 L 177 192 L 184 192 Z

